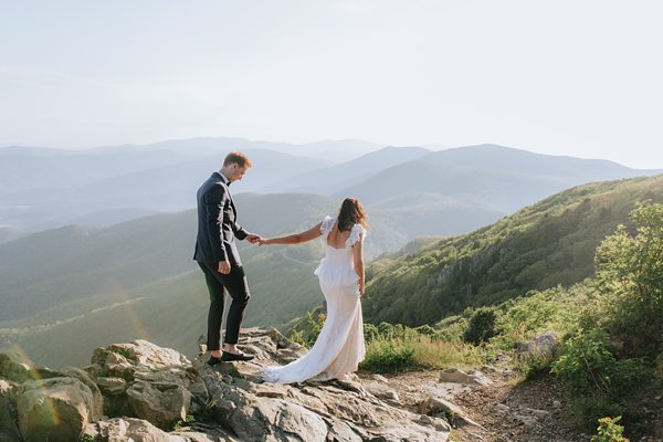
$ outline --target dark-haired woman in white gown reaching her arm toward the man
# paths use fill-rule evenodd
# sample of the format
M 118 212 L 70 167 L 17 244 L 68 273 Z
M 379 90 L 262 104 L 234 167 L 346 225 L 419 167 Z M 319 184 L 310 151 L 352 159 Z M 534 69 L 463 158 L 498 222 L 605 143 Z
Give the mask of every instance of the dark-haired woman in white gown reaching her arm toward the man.
M 336 219 L 326 217 L 312 229 L 261 244 L 299 244 L 322 236 L 325 257 L 315 274 L 327 302 L 320 334 L 302 358 L 283 367 L 265 367 L 263 379 L 274 383 L 340 379 L 356 371 L 366 355 L 361 303 L 364 296 L 364 240 L 367 215 L 354 198 L 343 201 Z

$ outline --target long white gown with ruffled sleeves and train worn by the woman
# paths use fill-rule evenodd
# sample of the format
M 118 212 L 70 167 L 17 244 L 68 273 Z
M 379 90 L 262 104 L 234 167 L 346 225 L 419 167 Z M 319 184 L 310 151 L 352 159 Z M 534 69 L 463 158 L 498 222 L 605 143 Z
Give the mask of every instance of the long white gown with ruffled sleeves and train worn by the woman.
M 345 248 L 335 249 L 327 244 L 327 236 L 335 224 L 336 219 L 326 217 L 320 225 L 326 256 L 315 271 L 327 302 L 325 325 L 311 350 L 302 358 L 283 367 L 263 368 L 263 379 L 267 382 L 338 379 L 356 371 L 364 360 L 364 320 L 352 244 L 364 241 L 366 230 L 355 224 Z

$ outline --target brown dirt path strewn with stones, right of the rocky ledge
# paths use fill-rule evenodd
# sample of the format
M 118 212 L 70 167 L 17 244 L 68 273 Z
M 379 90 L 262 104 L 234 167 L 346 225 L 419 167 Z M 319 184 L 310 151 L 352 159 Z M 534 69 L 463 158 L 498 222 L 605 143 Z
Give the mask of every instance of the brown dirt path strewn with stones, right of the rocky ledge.
M 429 398 L 457 406 L 475 424 L 453 420 L 452 442 L 588 442 L 590 435 L 573 425 L 562 386 L 551 376 L 515 382 L 508 370 L 482 371 L 488 386 L 439 382 L 440 371 L 387 376 L 382 388 L 396 391 L 393 404 L 420 412 Z M 380 379 L 380 377 L 375 377 Z M 378 380 L 362 383 L 376 389 Z

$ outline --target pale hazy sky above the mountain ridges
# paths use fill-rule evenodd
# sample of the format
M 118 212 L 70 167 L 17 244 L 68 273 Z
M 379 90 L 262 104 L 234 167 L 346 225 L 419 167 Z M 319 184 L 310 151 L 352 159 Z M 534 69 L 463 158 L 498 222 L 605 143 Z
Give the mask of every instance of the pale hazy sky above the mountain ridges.
M 0 0 L 0 146 L 496 143 L 663 168 L 663 2 Z

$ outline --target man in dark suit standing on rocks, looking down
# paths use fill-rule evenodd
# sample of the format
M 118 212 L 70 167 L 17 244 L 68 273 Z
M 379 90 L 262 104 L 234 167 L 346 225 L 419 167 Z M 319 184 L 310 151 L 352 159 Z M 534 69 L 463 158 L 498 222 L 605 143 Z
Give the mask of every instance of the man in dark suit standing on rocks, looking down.
M 242 152 L 228 154 L 220 171 L 212 173 L 198 189 L 198 236 L 193 260 L 204 273 L 210 292 L 208 315 L 208 350 L 210 366 L 221 361 L 251 360 L 253 355 L 242 352 L 236 344 L 244 308 L 251 297 L 246 276 L 234 239 L 256 243 L 262 238 L 249 233 L 236 223 L 235 206 L 228 187 L 241 180 L 252 166 Z M 225 320 L 225 338 L 221 351 L 221 319 L 223 316 L 223 288 L 232 298 Z

